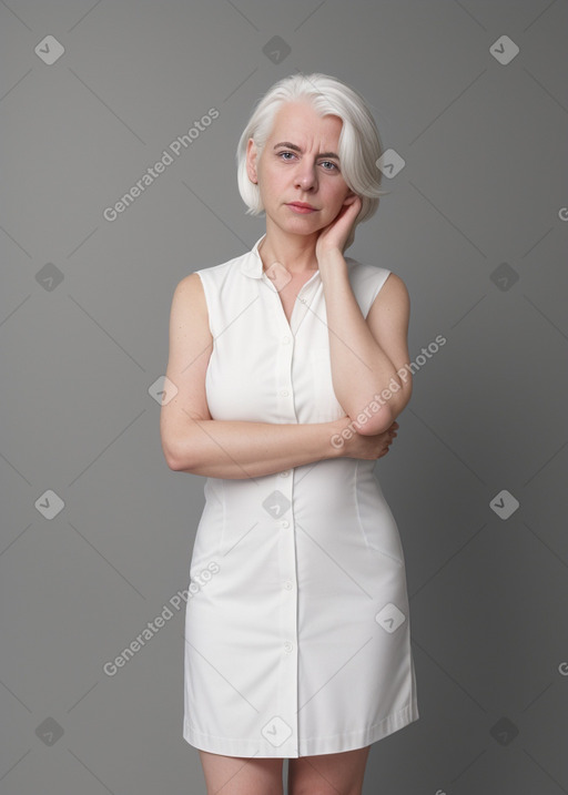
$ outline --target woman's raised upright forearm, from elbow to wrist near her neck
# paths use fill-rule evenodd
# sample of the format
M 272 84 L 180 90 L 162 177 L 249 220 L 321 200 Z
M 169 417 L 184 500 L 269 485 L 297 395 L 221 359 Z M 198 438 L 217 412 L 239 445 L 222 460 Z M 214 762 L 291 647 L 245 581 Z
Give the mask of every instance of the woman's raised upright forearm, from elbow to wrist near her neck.
M 382 432 L 408 402 L 409 390 L 361 313 L 341 252 L 326 254 L 320 269 L 325 292 L 335 395 L 361 432 Z M 385 399 L 387 390 L 389 394 Z M 362 412 L 367 418 L 366 427 L 357 421 Z

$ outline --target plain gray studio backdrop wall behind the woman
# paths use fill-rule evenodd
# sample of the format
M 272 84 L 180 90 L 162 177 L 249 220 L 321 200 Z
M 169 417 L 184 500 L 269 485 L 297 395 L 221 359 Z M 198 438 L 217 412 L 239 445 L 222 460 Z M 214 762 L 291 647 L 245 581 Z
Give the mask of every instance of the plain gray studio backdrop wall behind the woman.
M 567 3 L 14 0 L 0 20 L 1 792 L 204 793 L 183 608 L 103 665 L 189 582 L 204 479 L 165 465 L 155 397 L 172 294 L 264 233 L 234 151 L 296 71 L 356 88 L 406 161 L 347 255 L 405 281 L 413 359 L 447 339 L 377 462 L 420 718 L 372 746 L 364 792 L 568 792 Z

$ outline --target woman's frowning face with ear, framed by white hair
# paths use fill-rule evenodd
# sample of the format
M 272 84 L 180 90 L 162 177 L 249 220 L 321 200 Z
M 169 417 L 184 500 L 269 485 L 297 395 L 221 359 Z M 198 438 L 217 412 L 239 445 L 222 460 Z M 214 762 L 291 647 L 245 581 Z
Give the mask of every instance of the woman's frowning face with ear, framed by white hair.
M 248 179 L 258 184 L 267 226 L 274 223 L 293 234 L 317 233 L 354 195 L 341 172 L 342 126 L 338 116 L 322 118 L 307 102 L 287 102 L 276 113 L 260 156 L 248 140 L 246 169 Z M 315 210 L 300 213 L 288 206 L 293 202 Z

